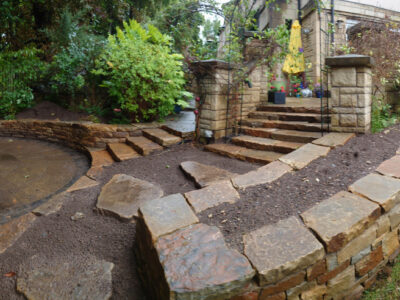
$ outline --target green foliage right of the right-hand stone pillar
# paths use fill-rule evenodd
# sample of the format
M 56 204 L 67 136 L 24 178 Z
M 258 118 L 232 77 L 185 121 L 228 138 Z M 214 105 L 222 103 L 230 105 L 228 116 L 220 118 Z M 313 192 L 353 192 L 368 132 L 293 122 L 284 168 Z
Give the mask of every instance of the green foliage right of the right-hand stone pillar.
M 372 115 L 371 115 L 371 131 L 379 132 L 396 124 L 398 116 L 391 112 L 390 104 L 384 103 L 383 99 L 373 97 Z

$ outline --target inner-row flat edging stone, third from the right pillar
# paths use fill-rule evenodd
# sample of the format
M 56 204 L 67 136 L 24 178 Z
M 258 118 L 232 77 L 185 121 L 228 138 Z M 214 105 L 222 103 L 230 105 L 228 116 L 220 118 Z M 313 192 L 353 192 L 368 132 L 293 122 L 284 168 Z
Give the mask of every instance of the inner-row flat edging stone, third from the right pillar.
M 245 189 L 250 186 L 273 182 L 292 170 L 293 169 L 287 164 L 280 161 L 274 161 L 255 171 L 250 171 L 246 174 L 233 177 L 232 183 L 236 188 Z

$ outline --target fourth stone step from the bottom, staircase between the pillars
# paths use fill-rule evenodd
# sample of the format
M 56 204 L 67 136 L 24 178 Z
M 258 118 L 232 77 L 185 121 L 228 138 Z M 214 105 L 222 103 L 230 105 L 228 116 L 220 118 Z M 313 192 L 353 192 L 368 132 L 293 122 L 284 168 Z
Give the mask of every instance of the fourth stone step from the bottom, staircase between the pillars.
M 301 131 L 321 131 L 321 123 L 309 123 L 300 121 L 279 121 L 279 120 L 265 120 L 265 119 L 245 119 L 241 122 L 242 125 L 248 127 L 264 127 L 264 128 L 279 128 L 289 130 Z M 328 129 L 328 124 L 323 124 L 324 131 Z

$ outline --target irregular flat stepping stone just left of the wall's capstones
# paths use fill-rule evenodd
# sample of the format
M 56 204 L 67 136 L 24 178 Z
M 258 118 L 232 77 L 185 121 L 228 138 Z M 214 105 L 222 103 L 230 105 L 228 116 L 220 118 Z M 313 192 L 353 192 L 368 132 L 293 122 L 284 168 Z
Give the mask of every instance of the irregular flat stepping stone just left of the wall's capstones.
M 139 216 L 140 205 L 163 195 L 160 187 L 148 181 L 117 174 L 101 189 L 96 206 L 101 211 L 129 220 Z

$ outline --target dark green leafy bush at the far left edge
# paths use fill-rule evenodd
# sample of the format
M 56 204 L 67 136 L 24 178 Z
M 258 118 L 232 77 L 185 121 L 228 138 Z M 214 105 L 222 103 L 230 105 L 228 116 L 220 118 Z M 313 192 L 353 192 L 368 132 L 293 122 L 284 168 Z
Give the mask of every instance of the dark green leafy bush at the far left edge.
M 0 118 L 13 119 L 32 105 L 32 87 L 45 66 L 39 53 L 35 48 L 0 52 Z

